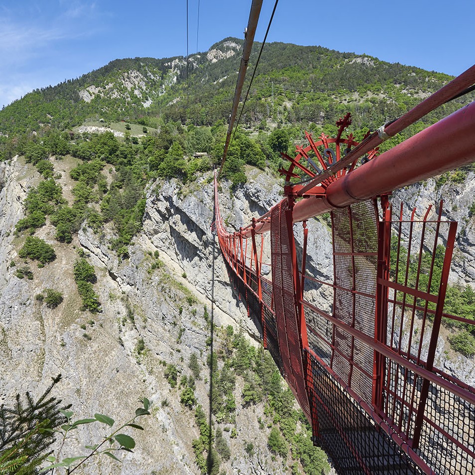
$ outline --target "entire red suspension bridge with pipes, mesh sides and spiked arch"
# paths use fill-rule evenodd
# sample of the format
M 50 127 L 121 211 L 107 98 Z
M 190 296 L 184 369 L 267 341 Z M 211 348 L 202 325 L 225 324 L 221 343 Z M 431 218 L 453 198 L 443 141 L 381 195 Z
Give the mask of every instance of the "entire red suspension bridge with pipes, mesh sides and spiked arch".
M 376 148 L 474 83 L 475 66 L 359 144 L 344 137 L 349 115 L 334 138 L 307 133 L 280 170 L 285 198 L 238 232 L 224 227 L 215 176 L 214 230 L 230 278 L 339 474 L 475 473 L 475 388 L 435 365 L 442 320 L 475 324 L 444 311 L 457 223 L 443 220 L 442 203 L 416 220 L 389 198 L 475 161 L 475 102 Z M 307 255 L 307 220 L 327 212 L 329 281 Z

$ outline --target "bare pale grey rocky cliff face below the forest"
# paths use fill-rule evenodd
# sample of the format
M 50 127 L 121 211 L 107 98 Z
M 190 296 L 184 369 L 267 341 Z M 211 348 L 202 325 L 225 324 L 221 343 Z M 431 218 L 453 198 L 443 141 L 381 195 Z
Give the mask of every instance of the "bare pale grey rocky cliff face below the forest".
M 68 189 L 68 165 L 54 161 L 61 174 L 63 189 Z M 223 188 L 220 200 L 229 229 L 238 229 L 252 216 L 268 210 L 279 199 L 273 178 L 255 169 L 248 171 L 248 184 L 231 193 Z M 78 417 L 94 413 L 110 414 L 125 420 L 136 407 L 137 399 L 148 397 L 152 416 L 143 421 L 145 431 L 135 434 L 137 448 L 127 454 L 123 464 L 99 460 L 86 465 L 84 474 L 198 474 L 192 441 L 199 435 L 193 412 L 180 404 L 179 393 L 168 384 L 164 364 L 172 363 L 188 375 L 192 353 L 198 355 L 206 373 L 209 325 L 205 306 L 211 307 L 211 262 L 213 237 L 213 186 L 211 176 L 179 186 L 176 181 L 151 184 L 147 192 L 143 232 L 129 247 L 130 258 L 120 260 L 108 247 L 111 231 L 94 234 L 83 227 L 72 244 L 54 240 L 51 226 L 36 234 L 54 243 L 57 259 L 43 268 L 25 264 L 18 257 L 24 237 L 15 237 L 16 222 L 23 218 L 22 202 L 27 190 L 37 184 L 36 171 L 19 159 L 0 163 L 0 401 L 30 390 L 40 394 L 50 377 L 62 373 L 56 395 L 72 403 Z M 440 194 L 447 196 L 449 218 L 459 219 L 462 228 L 451 278 L 473 283 L 475 275 L 475 230 L 469 218 L 475 178 L 469 175 L 466 187 L 450 184 L 437 188 L 434 180 L 395 193 L 395 200 L 414 204 L 422 213 Z M 66 193 L 67 194 L 67 193 Z M 229 214 L 228 214 L 229 213 Z M 331 272 L 331 237 L 327 227 L 310 220 L 309 269 L 318 278 Z M 301 243 L 301 228 L 296 228 Z M 299 244 L 300 245 L 300 244 Z M 267 246 L 267 249 L 269 246 Z M 78 251 L 85 253 L 95 267 L 95 289 L 102 313 L 81 311 L 73 278 L 73 263 Z M 218 243 L 216 242 L 218 255 Z M 13 266 L 13 262 L 15 266 Z M 270 258 L 269 258 L 270 261 Z M 18 266 L 29 265 L 33 279 L 14 275 Z M 263 269 L 266 272 L 266 269 Z M 268 269 L 267 269 L 268 272 Z M 48 309 L 35 299 L 45 288 L 64 293 L 56 309 Z M 226 267 L 221 258 L 215 267 L 215 323 L 242 328 L 250 338 L 255 330 L 242 306 L 233 296 Z M 320 302 L 325 293 L 313 290 Z M 143 342 L 140 349 L 139 342 Z M 439 366 L 475 384 L 475 366 L 467 358 L 450 352 L 440 340 Z M 196 381 L 198 400 L 207 407 L 207 379 Z M 282 460 L 267 448 L 268 428 L 259 428 L 262 405 L 241 408 L 237 400 L 237 438 L 225 433 L 232 458 L 222 467 L 230 474 L 280 474 L 286 471 Z M 80 453 L 80 446 L 104 435 L 100 427 L 83 428 L 82 444 L 73 441 L 63 456 Z M 252 441 L 252 454 L 244 451 Z

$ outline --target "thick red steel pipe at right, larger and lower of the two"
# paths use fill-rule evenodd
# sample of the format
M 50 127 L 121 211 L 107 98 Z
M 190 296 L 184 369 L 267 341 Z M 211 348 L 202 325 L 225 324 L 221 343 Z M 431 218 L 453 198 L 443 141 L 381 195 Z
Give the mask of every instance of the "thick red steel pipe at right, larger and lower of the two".
M 303 221 L 474 161 L 475 102 L 331 183 L 326 197 L 301 200 L 293 219 Z

